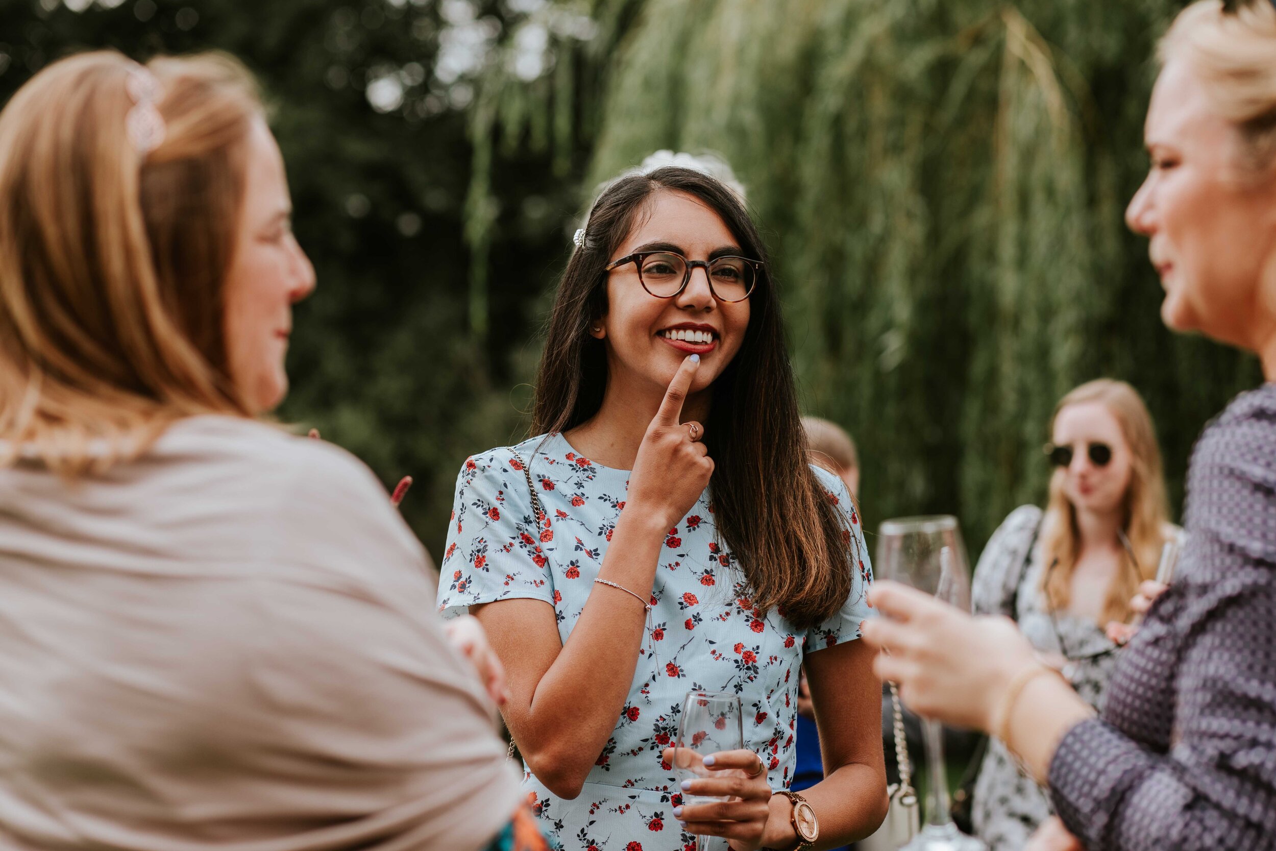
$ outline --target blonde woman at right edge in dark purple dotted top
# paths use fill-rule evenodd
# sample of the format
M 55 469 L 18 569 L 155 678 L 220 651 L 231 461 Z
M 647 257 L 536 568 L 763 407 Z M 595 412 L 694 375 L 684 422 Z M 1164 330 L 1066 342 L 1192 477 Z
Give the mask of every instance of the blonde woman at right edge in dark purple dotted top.
M 883 583 L 864 625 L 914 709 L 991 732 L 1049 785 L 1059 820 L 1032 851 L 1276 846 L 1276 3 L 1194 3 L 1161 59 L 1125 219 L 1165 324 L 1254 352 L 1267 380 L 1193 449 L 1174 582 L 1097 717 L 1007 620 Z

